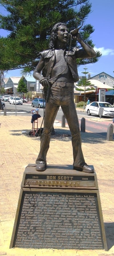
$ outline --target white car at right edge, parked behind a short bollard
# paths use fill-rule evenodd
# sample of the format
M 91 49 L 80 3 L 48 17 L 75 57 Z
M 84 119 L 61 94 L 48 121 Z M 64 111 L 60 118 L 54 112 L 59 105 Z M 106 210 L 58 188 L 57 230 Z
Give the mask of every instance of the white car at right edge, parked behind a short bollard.
M 92 102 L 89 105 L 86 105 L 86 112 L 87 115 L 90 116 L 91 114 L 99 115 L 99 108 L 103 108 L 102 116 L 114 116 L 114 107 L 108 102 Z

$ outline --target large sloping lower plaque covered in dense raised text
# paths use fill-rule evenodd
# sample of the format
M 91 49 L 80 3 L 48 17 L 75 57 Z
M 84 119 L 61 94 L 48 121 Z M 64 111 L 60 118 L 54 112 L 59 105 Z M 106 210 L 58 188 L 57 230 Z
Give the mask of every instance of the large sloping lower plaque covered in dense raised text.
M 12 247 L 107 250 L 99 192 L 21 188 Z

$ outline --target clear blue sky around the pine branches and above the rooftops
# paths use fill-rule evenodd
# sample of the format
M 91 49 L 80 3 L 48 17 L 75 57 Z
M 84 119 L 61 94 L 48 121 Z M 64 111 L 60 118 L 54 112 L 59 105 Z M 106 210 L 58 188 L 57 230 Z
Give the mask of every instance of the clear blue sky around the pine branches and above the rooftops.
M 90 0 L 92 4 L 92 12 L 86 19 L 86 23 L 90 23 L 94 27 L 94 32 L 91 34 L 91 39 L 95 44 L 95 49 L 102 52 L 102 57 L 97 63 L 82 65 L 78 68 L 78 74 L 83 75 L 81 72 L 87 68 L 92 76 L 101 72 L 105 72 L 114 77 L 114 0 Z M 1 14 L 3 8 L 0 8 Z M 0 30 L 1 36 L 6 36 L 7 31 Z M 8 71 L 5 75 L 21 76 L 20 70 Z

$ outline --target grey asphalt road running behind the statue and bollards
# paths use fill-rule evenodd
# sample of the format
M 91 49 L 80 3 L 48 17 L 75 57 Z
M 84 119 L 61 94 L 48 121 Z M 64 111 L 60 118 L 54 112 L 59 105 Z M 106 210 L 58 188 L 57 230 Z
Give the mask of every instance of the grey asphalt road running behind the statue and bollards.
M 5 102 L 5 106 L 7 108 L 7 112 L 9 115 L 22 114 L 26 116 L 27 115 L 32 116 L 31 110 L 35 109 L 35 108 L 32 108 L 31 103 L 29 102 L 23 103 L 23 105 L 16 105 L 16 106 L 10 105 L 8 102 Z M 41 115 L 41 117 L 43 117 L 43 112 L 44 110 L 40 108 L 39 114 Z M 83 110 L 81 111 L 77 110 L 77 114 L 78 114 L 78 120 L 79 120 L 80 126 L 81 126 L 82 117 L 85 118 L 86 132 L 98 133 L 101 136 L 106 137 L 108 125 L 113 123 L 113 118 L 101 118 L 100 120 L 100 118 L 96 116 L 87 116 L 87 113 L 84 112 Z M 60 108 L 56 116 L 56 120 L 58 120 L 60 123 L 61 123 L 62 115 L 63 115 L 63 112 L 62 112 L 62 109 Z M 68 125 L 67 121 L 66 121 L 66 125 Z

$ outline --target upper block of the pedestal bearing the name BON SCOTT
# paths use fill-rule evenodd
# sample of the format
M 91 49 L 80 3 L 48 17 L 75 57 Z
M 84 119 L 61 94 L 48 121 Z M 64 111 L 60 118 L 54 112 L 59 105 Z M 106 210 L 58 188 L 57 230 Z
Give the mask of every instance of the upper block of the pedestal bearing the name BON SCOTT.
M 73 166 L 70 165 L 48 165 L 43 173 L 37 172 L 34 165 L 28 165 L 23 175 L 21 187 L 98 189 L 98 184 L 95 172 L 91 174 L 79 172 L 73 170 Z

